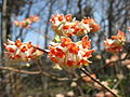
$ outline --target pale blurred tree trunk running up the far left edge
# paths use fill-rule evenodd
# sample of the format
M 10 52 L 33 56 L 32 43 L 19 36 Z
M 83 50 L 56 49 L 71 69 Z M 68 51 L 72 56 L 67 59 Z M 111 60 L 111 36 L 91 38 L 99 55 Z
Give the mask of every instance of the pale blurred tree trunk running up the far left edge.
M 8 0 L 2 1 L 2 12 L 1 12 L 1 65 L 4 66 L 4 47 L 3 43 L 6 42 L 6 10 L 8 10 Z M 0 71 L 2 81 L 4 80 L 3 71 Z M 0 95 L 5 96 L 5 83 L 0 83 Z

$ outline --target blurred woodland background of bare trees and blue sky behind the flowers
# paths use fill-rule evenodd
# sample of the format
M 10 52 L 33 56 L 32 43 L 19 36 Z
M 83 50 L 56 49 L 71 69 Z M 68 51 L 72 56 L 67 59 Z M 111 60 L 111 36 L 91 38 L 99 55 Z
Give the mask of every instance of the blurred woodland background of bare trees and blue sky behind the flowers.
M 130 0 L 0 0 L 0 97 L 101 97 L 96 95 L 105 94 L 102 88 L 93 87 L 93 83 L 82 80 L 79 70 L 69 74 L 54 68 L 46 54 L 30 63 L 15 63 L 4 55 L 6 39 L 31 41 L 46 48 L 55 36 L 49 20 L 56 12 L 72 14 L 78 20 L 92 17 L 101 25 L 99 32 L 89 34 L 92 48 L 96 51 L 91 58 L 92 65 L 86 69 L 118 91 L 121 97 L 129 97 L 130 59 L 120 60 L 127 51 L 112 55 L 104 50 L 103 42 L 118 30 L 126 32 L 127 41 L 130 41 Z M 13 24 L 31 15 L 40 16 L 40 20 L 28 29 Z M 109 61 L 115 63 L 110 65 Z M 17 70 L 41 70 L 42 73 Z

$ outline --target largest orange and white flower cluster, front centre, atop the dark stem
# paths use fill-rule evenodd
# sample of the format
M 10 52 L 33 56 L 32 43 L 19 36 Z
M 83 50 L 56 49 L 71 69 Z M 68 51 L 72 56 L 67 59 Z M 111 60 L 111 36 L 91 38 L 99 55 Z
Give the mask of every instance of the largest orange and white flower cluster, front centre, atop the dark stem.
M 88 58 L 94 50 L 90 50 L 91 41 L 88 39 L 86 36 L 81 41 L 74 43 L 69 38 L 62 37 L 61 43 L 52 43 L 49 46 L 50 59 L 66 70 L 89 65 L 91 61 Z

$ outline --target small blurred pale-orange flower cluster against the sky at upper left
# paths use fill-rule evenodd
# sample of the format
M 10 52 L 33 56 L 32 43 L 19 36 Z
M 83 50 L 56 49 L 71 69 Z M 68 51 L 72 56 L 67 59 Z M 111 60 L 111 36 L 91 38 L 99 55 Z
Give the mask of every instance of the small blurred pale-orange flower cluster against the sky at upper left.
M 30 24 L 36 23 L 38 20 L 39 20 L 39 16 L 34 15 L 34 16 L 30 16 L 28 18 L 25 18 L 23 22 L 15 20 L 14 25 L 18 26 L 18 27 L 22 27 L 22 28 L 29 28 Z

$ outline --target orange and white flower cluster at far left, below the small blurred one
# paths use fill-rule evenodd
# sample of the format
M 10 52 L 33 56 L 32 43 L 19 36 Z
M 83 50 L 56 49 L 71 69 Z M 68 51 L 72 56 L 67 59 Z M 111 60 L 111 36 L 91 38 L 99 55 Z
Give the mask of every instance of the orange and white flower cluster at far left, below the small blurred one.
M 9 58 L 20 61 L 28 61 L 42 55 L 42 52 L 36 50 L 31 42 L 22 43 L 21 40 L 16 40 L 16 42 L 8 40 L 4 46 L 6 50 L 5 54 L 8 54 Z

